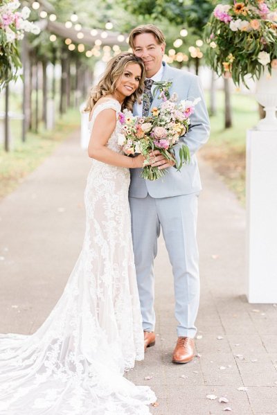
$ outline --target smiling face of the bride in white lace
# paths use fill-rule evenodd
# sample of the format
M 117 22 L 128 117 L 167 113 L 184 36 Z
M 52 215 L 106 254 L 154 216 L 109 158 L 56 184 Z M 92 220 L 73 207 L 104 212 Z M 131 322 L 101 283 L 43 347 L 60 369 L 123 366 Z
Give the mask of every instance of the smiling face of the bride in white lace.
M 127 64 L 116 84 L 116 92 L 124 97 L 130 96 L 138 89 L 140 80 L 141 67 L 139 64 Z

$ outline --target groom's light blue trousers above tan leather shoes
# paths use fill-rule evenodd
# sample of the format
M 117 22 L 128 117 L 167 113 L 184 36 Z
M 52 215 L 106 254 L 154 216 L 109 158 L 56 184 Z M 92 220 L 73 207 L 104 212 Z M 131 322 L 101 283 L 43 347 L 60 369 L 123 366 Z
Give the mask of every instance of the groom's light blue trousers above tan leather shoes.
M 199 307 L 198 195 L 129 197 L 143 330 L 154 331 L 155 326 L 153 270 L 161 228 L 174 276 L 177 336 L 195 337 Z

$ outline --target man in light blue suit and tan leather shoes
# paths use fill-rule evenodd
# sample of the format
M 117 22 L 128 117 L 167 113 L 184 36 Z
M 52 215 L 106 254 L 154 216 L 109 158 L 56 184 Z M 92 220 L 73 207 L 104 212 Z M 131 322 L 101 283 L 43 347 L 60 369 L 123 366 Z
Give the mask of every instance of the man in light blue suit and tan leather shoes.
M 135 115 L 148 115 L 152 107 L 161 103 L 152 95 L 153 82 L 172 81 L 170 96 L 178 94 L 179 100 L 201 98 L 190 116 L 190 129 L 175 145 L 175 159 L 183 143 L 190 150 L 190 164 L 177 171 L 174 162 L 168 162 L 155 150 L 155 164 L 167 168 L 163 179 L 151 182 L 141 178 L 141 169 L 131 169 L 129 203 L 132 214 L 132 237 L 136 276 L 141 301 L 145 349 L 155 344 L 154 274 L 153 262 L 157 255 L 157 238 L 160 229 L 172 265 L 175 287 L 175 317 L 177 344 L 172 362 L 187 363 L 194 356 L 196 334 L 195 319 L 199 306 L 199 269 L 196 240 L 197 200 L 201 182 L 195 152 L 208 140 L 209 121 L 199 78 L 186 71 L 169 67 L 163 62 L 166 39 L 157 26 L 147 24 L 134 28 L 129 44 L 144 64 L 147 79 L 143 103 L 134 105 Z

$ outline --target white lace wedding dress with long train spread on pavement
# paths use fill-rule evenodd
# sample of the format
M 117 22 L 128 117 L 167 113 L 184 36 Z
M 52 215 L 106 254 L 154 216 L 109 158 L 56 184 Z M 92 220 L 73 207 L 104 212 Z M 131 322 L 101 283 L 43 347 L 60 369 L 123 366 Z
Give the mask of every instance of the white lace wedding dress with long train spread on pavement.
M 98 104 L 91 127 L 106 108 L 120 104 Z M 120 152 L 116 130 L 107 146 Z M 33 335 L 0 336 L 1 415 L 150 414 L 154 393 L 123 377 L 143 359 L 128 187 L 129 169 L 92 161 L 84 244 L 62 297 Z

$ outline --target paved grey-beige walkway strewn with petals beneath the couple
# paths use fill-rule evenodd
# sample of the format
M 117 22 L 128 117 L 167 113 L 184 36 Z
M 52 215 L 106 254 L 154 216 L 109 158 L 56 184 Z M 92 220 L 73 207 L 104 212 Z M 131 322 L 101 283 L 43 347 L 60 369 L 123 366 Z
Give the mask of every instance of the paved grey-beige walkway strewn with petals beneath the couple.
M 75 133 L 0 203 L 1 333 L 33 333 L 42 324 L 79 254 L 90 161 L 78 144 Z M 211 168 L 201 164 L 201 170 L 198 355 L 186 365 L 170 362 L 176 322 L 171 268 L 160 238 L 157 344 L 127 376 L 156 392 L 159 407 L 152 414 L 215 415 L 228 407 L 240 415 L 277 414 L 277 308 L 247 303 L 244 209 Z M 229 402 L 219 403 L 222 397 Z

